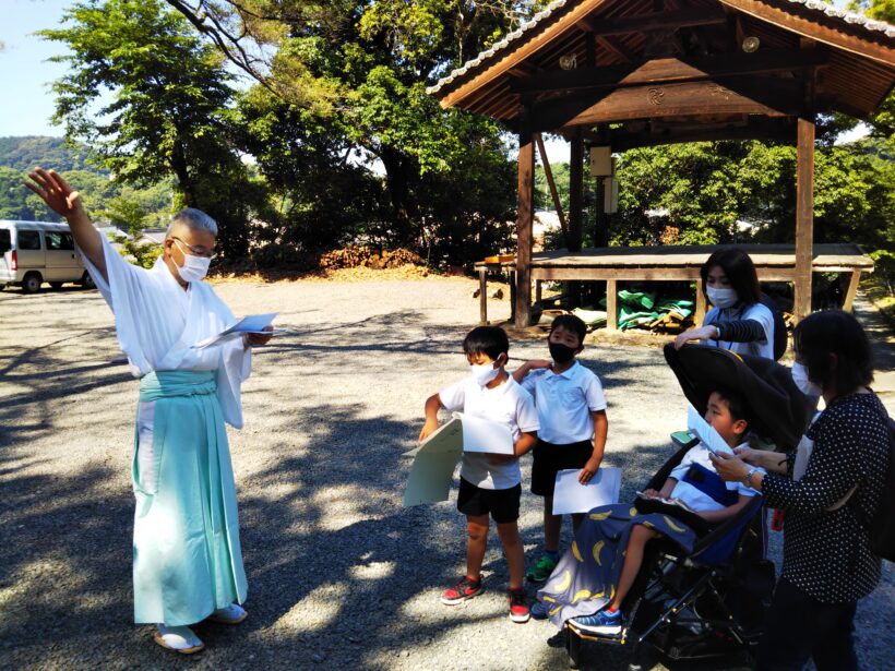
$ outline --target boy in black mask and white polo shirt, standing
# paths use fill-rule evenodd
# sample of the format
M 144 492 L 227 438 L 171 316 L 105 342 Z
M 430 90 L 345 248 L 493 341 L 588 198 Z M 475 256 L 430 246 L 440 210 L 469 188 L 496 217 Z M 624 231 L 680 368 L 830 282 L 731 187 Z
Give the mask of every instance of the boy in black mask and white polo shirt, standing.
M 513 378 L 535 397 L 538 409 L 538 443 L 532 466 L 532 493 L 544 496 L 544 554 L 526 577 L 544 583 L 559 563 L 562 516 L 553 515 L 557 472 L 580 468 L 586 483 L 599 469 L 609 422 L 599 378 L 575 357 L 584 349 L 587 327 L 574 314 L 562 314 L 550 325 L 547 345 L 552 361 L 522 364 Z M 583 514 L 572 515 L 577 529 Z

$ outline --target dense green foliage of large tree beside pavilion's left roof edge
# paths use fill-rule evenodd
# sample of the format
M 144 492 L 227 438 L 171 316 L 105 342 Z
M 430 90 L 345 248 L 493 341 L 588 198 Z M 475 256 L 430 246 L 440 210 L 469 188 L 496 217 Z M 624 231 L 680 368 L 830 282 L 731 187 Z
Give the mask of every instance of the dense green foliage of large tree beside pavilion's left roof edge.
M 274 196 L 276 216 L 259 236 L 306 249 L 353 237 L 438 254 L 443 248 L 460 254 L 454 263 L 478 251 L 430 244 L 437 231 L 453 237 L 463 219 L 501 237 L 515 204 L 512 176 L 509 189 L 472 199 L 442 199 L 432 185 L 481 194 L 475 176 L 506 172 L 502 129 L 442 110 L 426 86 L 512 29 L 522 5 L 252 0 L 239 12 L 235 2 L 199 7 L 193 19 L 240 25 L 274 55 L 264 84 L 237 109 L 239 144 L 256 158 Z M 259 15 L 267 19 L 252 20 Z M 383 177 L 366 169 L 373 164 Z

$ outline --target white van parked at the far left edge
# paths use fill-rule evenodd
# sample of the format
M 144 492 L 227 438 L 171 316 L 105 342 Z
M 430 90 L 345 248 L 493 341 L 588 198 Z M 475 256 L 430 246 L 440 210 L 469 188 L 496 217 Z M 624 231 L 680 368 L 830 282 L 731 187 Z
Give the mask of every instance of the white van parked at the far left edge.
M 0 289 L 21 285 L 25 293 L 34 293 L 45 281 L 53 288 L 67 281 L 94 287 L 69 225 L 0 219 Z

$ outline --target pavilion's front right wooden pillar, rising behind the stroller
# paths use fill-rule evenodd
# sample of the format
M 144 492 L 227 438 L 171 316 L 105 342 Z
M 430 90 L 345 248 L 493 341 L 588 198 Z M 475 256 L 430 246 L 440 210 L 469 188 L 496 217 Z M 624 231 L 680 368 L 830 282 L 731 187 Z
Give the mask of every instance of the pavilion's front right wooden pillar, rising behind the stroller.
M 814 122 L 799 119 L 796 159 L 796 320 L 811 313 L 814 256 Z

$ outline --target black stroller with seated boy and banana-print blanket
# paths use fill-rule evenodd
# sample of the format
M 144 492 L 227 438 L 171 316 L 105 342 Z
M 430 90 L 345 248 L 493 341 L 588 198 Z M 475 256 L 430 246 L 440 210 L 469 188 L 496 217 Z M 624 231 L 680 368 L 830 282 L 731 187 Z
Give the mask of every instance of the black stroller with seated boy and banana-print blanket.
M 728 590 L 717 579 L 721 575 L 733 577 L 731 563 L 738 563 L 737 571 L 743 573 L 742 562 L 731 562 L 731 558 L 736 551 L 742 554 L 747 531 L 759 539 L 753 546 L 761 544 L 761 527 L 755 517 L 761 496 L 745 484 L 732 484 L 733 489 L 728 490 L 714 472 L 706 443 L 718 448 L 718 441 L 709 440 L 706 424 L 723 439 L 721 450 L 738 444 L 747 426 L 762 429 L 763 435 L 791 448 L 807 423 L 809 404 L 792 383 L 788 369 L 767 360 L 702 346 L 687 346 L 678 352 L 666 348 L 666 358 L 688 399 L 705 411 L 705 423 L 697 428 L 702 440 L 679 451 L 653 478 L 653 489 L 646 489 L 634 507 L 604 506 L 585 518 L 572 548 L 538 592 L 540 604 L 536 609 L 546 611 L 560 627 L 568 624 L 577 635 L 570 635 L 570 643 L 578 636 L 624 643 L 629 628 L 635 624 L 637 608 L 651 589 L 652 596 L 646 599 L 653 601 L 649 620 L 644 623 L 640 618 L 633 627 L 642 632 L 637 644 L 653 634 L 651 643 L 657 644 L 657 638 L 661 638 L 660 647 L 666 651 L 680 651 L 680 645 L 669 643 L 667 634 L 673 628 L 669 623 L 682 618 L 683 611 L 693 614 L 695 610 L 691 607 L 697 599 L 704 601 L 706 594 L 717 597 L 711 610 L 721 613 L 718 621 L 724 622 L 720 628 L 725 631 L 719 634 L 718 627 L 706 626 L 706 622 L 700 627 L 709 634 L 714 628 L 713 640 L 745 643 L 742 630 L 724 603 Z M 737 391 L 726 391 L 730 388 Z M 750 552 L 755 563 L 763 549 L 752 548 Z M 648 571 L 640 573 L 642 565 Z M 763 568 L 766 573 L 768 567 Z M 764 583 L 772 582 L 773 571 Z M 644 610 L 649 612 L 648 608 Z M 658 618 L 653 621 L 656 614 Z M 575 655 L 572 657 L 574 661 Z

